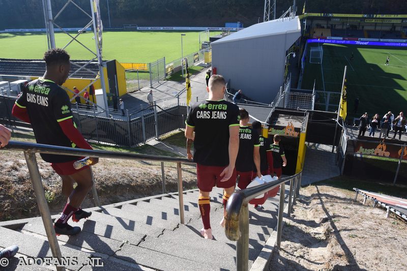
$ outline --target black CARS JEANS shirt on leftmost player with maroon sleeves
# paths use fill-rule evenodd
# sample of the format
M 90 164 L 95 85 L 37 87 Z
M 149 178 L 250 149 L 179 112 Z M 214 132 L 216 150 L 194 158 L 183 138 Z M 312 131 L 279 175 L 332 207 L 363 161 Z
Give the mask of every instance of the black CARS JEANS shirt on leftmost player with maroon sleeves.
M 59 122 L 72 118 L 71 102 L 63 88 L 51 80 L 39 78 L 28 83 L 16 105 L 26 108 L 39 144 L 75 147 L 62 131 Z M 63 163 L 78 157 L 40 154 L 49 163 Z

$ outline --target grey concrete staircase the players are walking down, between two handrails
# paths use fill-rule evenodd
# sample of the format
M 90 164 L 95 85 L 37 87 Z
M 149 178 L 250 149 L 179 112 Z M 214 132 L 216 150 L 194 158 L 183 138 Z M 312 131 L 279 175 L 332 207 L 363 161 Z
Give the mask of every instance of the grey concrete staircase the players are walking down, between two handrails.
M 287 187 L 287 186 L 286 186 Z M 288 191 L 286 190 L 286 195 Z M 211 226 L 214 240 L 200 236 L 198 191 L 184 192 L 185 225 L 180 224 L 178 194 L 165 194 L 92 208 L 92 216 L 79 223 L 76 236 L 59 236 L 64 257 L 77 257 L 70 270 L 235 270 L 236 242 L 219 226 L 223 216 L 222 190 L 211 193 Z M 249 267 L 277 224 L 278 196 L 263 209 L 250 205 Z M 95 212 L 96 209 L 96 212 Z M 51 257 L 41 218 L 0 227 L 0 247 L 18 245 L 19 252 L 4 270 L 49 270 L 51 266 L 19 265 L 19 257 Z M 103 267 L 87 265 L 100 257 Z M 1 269 L 1 268 L 0 268 Z M 3 269 L 2 269 L 3 270 Z

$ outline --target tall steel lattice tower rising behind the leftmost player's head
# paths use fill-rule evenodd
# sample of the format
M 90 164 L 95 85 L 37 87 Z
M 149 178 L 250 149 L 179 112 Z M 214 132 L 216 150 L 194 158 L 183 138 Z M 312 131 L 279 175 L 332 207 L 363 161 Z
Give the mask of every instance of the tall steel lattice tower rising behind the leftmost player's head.
M 59 28 L 61 32 L 65 33 L 68 35 L 71 39 L 70 41 L 62 47 L 62 49 L 67 48 L 72 42 L 77 42 L 79 43 L 84 49 L 90 51 L 94 57 L 90 59 L 89 61 L 86 61 L 84 64 L 78 64 L 75 62 L 71 61 L 72 66 L 76 66 L 78 69 L 71 73 L 69 77 L 73 77 L 76 73 L 78 73 L 81 70 L 86 70 L 92 74 L 95 75 L 95 79 L 91 80 L 91 82 L 86 85 L 78 95 L 82 94 L 84 91 L 86 91 L 87 88 L 89 88 L 91 85 L 93 85 L 98 79 L 100 79 L 100 85 L 102 87 L 102 92 L 103 92 L 103 100 L 104 104 L 103 107 L 100 105 L 96 105 L 98 108 L 102 109 L 102 111 L 105 111 L 106 116 L 109 115 L 109 107 L 107 105 L 107 98 L 106 98 L 106 84 L 104 81 L 104 72 L 103 72 L 103 66 L 106 64 L 102 61 L 102 30 L 103 30 L 103 25 L 102 25 L 102 19 L 100 17 L 100 9 L 99 9 L 99 0 L 90 0 L 91 4 L 91 10 L 92 14 L 89 14 L 88 12 L 84 11 L 79 5 L 77 5 L 74 0 L 66 0 L 65 5 L 61 8 L 59 12 L 56 13 L 55 16 L 52 15 L 52 8 L 51 8 L 51 0 L 42 0 L 43 4 L 43 9 L 44 9 L 44 19 L 45 19 L 45 27 L 46 27 L 46 32 L 47 32 L 47 39 L 48 39 L 48 49 L 50 48 L 55 48 L 55 36 L 54 36 L 54 26 Z M 78 31 L 74 36 L 65 29 L 62 28 L 62 26 L 58 25 L 55 23 L 55 20 L 64 12 L 64 10 L 68 7 L 68 5 L 74 5 L 77 7 L 85 16 L 89 17 L 91 20 L 84 26 L 82 29 Z M 86 31 L 87 28 L 93 25 L 93 31 L 94 31 L 94 39 L 95 39 L 95 45 L 96 45 L 96 50 L 92 50 L 85 46 L 83 43 L 81 43 L 77 37 L 81 35 L 83 32 Z M 86 68 L 89 64 L 92 62 L 98 62 L 99 66 L 99 73 L 95 73 L 94 71 Z M 66 91 L 69 91 L 71 93 L 74 93 L 71 89 L 65 88 Z M 73 101 L 75 98 L 72 97 L 71 101 Z M 89 101 L 91 104 L 93 104 L 92 101 Z

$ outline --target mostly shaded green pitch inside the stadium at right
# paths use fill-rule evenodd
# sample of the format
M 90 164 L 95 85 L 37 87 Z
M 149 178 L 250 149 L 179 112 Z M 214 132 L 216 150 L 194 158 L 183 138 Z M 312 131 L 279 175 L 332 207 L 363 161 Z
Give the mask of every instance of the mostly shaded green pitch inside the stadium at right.
M 390 56 L 388 66 L 385 65 L 387 56 Z M 347 66 L 347 119 L 360 117 L 364 112 L 369 116 L 378 113 L 381 117 L 388 111 L 394 115 L 400 111 L 407 113 L 407 50 L 324 44 L 322 65 L 310 64 L 309 52 L 306 60 L 301 85 L 304 89 L 312 89 L 315 80 L 318 91 L 339 93 L 344 66 Z M 356 98 L 359 98 L 359 108 L 354 113 Z

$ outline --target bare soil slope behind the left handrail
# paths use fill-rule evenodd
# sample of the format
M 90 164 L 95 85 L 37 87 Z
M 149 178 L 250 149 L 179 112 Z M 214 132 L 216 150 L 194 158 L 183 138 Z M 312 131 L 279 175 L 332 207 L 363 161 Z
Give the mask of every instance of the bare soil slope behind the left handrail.
M 39 216 L 30 174 L 21 152 L 0 150 L 0 221 Z M 51 166 L 37 155 L 51 214 L 62 211 L 66 199 L 62 181 Z M 196 169 L 182 165 L 184 189 L 196 187 Z M 177 192 L 175 163 L 164 163 L 166 191 Z M 100 159 L 93 166 L 95 186 L 102 205 L 162 194 L 161 164 L 156 162 Z M 93 207 L 92 192 L 82 204 Z

